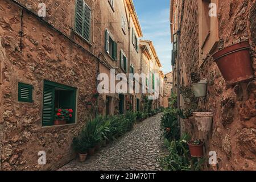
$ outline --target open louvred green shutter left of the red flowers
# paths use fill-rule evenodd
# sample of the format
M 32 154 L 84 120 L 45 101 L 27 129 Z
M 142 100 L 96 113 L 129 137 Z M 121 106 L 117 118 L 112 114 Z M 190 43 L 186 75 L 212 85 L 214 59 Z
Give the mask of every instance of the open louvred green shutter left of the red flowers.
M 44 85 L 43 93 L 43 126 L 53 125 L 55 89 L 53 86 Z

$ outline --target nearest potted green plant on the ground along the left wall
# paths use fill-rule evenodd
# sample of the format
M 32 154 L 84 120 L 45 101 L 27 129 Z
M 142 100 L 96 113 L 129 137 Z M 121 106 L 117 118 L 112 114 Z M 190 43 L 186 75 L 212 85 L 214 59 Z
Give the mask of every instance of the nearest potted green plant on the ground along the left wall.
M 73 139 L 72 146 L 73 149 L 78 152 L 80 162 L 85 162 L 88 155 L 88 143 L 86 143 L 84 139 L 79 136 Z

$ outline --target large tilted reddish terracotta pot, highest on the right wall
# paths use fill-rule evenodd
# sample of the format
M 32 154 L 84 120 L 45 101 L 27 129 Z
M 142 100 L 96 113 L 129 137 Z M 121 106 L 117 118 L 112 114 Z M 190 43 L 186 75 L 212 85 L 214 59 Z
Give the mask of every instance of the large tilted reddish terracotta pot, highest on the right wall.
M 253 78 L 249 42 L 241 42 L 221 49 L 212 57 L 227 84 Z

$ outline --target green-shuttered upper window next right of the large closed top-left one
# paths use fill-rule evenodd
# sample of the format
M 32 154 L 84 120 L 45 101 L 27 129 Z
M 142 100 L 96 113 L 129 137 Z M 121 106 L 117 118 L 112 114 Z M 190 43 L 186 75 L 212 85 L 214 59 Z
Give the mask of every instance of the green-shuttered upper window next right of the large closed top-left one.
M 117 61 L 117 43 L 109 35 L 108 30 L 105 31 L 105 51 L 113 60 Z

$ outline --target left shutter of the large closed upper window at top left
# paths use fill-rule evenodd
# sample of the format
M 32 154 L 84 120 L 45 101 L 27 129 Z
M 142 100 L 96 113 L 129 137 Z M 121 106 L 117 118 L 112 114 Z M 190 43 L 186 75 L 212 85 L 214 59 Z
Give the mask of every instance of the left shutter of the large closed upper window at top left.
M 84 21 L 84 1 L 76 1 L 76 18 L 75 18 L 75 31 L 82 36 L 83 33 L 83 21 Z

